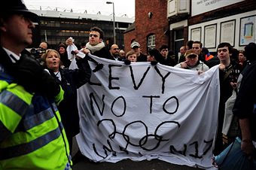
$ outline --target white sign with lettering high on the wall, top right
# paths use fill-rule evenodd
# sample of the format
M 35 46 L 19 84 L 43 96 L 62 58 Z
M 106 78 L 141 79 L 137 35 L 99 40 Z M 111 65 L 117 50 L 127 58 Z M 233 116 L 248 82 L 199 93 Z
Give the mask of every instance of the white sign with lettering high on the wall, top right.
M 213 11 L 227 5 L 233 5 L 237 2 L 245 0 L 193 0 L 191 5 L 191 16 L 203 14 L 208 11 Z

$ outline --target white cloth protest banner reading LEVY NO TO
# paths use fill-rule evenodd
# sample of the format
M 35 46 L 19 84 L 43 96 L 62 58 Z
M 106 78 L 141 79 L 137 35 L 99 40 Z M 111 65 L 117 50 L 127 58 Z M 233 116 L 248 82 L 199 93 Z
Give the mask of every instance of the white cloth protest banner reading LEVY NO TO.
M 212 167 L 218 120 L 218 66 L 203 74 L 150 62 L 103 68 L 78 90 L 81 153 L 95 162 L 161 159 Z M 95 63 L 90 62 L 91 68 Z

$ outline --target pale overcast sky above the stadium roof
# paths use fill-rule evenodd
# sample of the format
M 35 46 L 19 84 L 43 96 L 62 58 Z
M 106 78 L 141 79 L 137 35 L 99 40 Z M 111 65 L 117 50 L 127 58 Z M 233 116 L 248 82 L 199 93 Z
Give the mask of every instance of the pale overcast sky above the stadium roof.
M 10 0 L 9 0 L 10 1 Z M 97 14 L 99 11 L 103 15 L 111 15 L 113 13 L 113 5 L 106 2 L 114 2 L 114 14 L 121 17 L 126 14 L 128 17 L 135 17 L 135 0 L 23 0 L 29 9 L 70 11 L 87 14 Z

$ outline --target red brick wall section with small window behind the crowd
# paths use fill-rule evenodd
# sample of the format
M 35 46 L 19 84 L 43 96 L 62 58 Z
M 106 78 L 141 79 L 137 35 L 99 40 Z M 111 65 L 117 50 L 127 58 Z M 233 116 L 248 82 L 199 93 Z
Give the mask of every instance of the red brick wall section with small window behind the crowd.
M 130 50 L 130 41 L 136 39 L 141 44 L 142 53 L 147 53 L 147 36 L 156 35 L 156 47 L 168 45 L 168 35 L 164 34 L 169 29 L 166 0 L 136 0 L 136 29 L 124 35 L 125 50 Z M 148 17 L 148 13 L 152 17 Z

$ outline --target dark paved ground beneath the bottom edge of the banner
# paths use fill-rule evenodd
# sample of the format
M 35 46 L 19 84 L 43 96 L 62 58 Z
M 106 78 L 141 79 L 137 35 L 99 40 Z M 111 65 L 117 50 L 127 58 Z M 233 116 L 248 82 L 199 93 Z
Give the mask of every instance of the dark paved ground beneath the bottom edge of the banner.
M 74 138 L 75 139 L 75 138 Z M 72 155 L 78 152 L 78 144 L 73 140 Z M 202 168 L 191 168 L 185 165 L 174 165 L 158 159 L 151 161 L 133 162 L 126 159 L 120 162 L 90 162 L 88 159 L 81 159 L 73 166 L 73 170 L 202 170 Z

